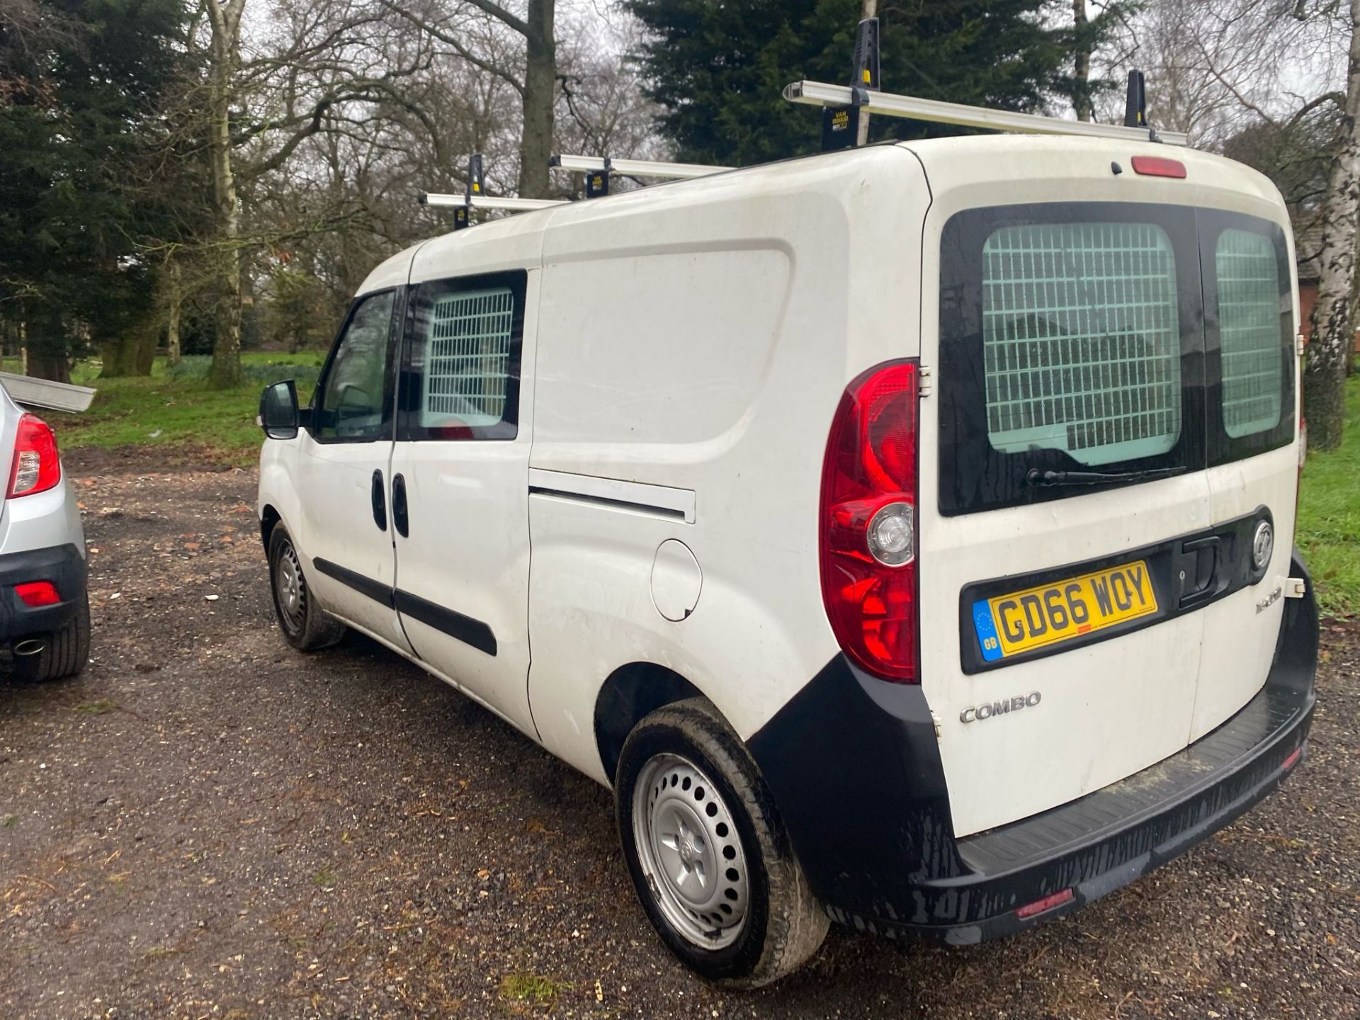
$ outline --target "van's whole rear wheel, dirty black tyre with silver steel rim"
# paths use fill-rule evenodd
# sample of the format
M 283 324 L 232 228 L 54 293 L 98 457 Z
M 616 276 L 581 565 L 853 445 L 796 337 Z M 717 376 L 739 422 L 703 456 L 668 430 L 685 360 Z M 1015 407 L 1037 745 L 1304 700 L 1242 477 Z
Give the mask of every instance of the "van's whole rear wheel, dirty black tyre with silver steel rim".
M 615 812 L 643 910 L 702 976 L 758 987 L 821 945 L 827 915 L 764 779 L 706 699 L 668 704 L 634 728 Z

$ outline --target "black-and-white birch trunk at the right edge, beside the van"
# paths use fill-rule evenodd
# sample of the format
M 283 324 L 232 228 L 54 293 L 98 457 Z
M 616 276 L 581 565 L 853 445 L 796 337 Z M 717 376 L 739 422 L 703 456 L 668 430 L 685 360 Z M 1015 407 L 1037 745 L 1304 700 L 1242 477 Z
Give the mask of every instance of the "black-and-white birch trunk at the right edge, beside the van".
M 1360 0 L 1350 0 L 1350 57 L 1346 65 L 1346 106 L 1341 117 L 1341 150 L 1331 165 L 1322 215 L 1318 299 L 1312 306 L 1312 337 L 1303 373 L 1303 404 L 1308 445 L 1334 450 L 1341 445 L 1346 412 L 1346 360 L 1355 347 L 1352 302 L 1356 271 L 1356 215 L 1360 212 Z

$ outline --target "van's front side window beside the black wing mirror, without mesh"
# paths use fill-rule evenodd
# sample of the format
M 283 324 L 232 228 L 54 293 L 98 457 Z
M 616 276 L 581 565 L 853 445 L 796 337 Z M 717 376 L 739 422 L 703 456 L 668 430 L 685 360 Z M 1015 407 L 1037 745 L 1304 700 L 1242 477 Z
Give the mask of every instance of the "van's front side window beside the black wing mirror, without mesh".
M 364 442 L 385 431 L 394 298 L 394 291 L 373 294 L 350 313 L 313 415 L 318 439 Z

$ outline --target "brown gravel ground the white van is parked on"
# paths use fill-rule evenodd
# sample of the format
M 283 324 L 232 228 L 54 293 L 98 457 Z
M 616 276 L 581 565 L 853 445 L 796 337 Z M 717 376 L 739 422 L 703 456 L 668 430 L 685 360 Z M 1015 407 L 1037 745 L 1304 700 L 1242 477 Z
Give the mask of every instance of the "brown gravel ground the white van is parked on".
M 1355 626 L 1307 764 L 1186 857 L 1002 942 L 832 929 L 722 994 L 653 937 L 605 790 L 366 639 L 283 643 L 252 472 L 136 469 L 76 481 L 91 665 L 0 681 L 4 1020 L 1360 1016 Z

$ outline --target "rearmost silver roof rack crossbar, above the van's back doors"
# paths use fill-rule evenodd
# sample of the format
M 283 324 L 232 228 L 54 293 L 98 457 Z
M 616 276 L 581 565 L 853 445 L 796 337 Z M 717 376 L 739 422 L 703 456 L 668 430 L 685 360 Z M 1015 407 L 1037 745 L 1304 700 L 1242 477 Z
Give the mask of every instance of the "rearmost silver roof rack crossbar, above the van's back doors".
M 1093 124 L 1089 121 L 1066 121 L 1059 117 L 1042 117 L 1034 113 L 1013 113 L 1010 110 L 989 110 L 985 106 L 964 106 L 938 99 L 918 99 L 911 95 L 853 90 L 847 86 L 827 82 L 792 82 L 783 87 L 783 98 L 808 106 L 850 106 L 868 95 L 864 113 L 884 117 L 906 117 L 938 124 L 957 124 L 964 128 L 990 128 L 991 131 L 1015 131 L 1031 135 L 1077 135 L 1095 139 L 1126 139 L 1129 141 L 1166 141 L 1171 146 L 1185 146 L 1187 139 L 1178 131 L 1155 131 L 1152 128 L 1126 128 L 1118 124 Z

